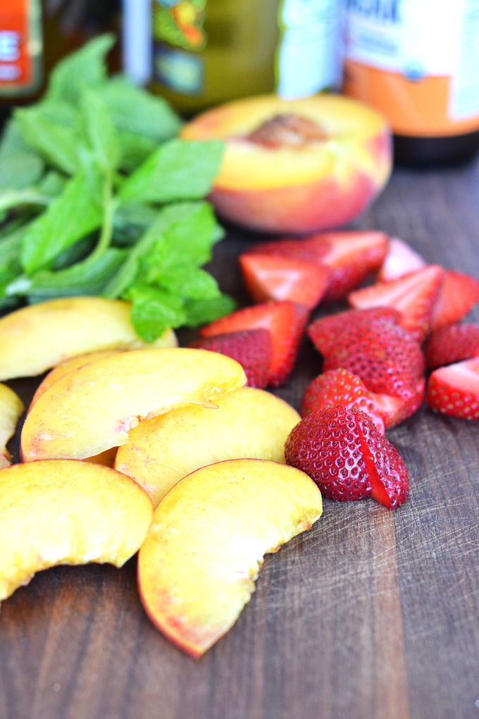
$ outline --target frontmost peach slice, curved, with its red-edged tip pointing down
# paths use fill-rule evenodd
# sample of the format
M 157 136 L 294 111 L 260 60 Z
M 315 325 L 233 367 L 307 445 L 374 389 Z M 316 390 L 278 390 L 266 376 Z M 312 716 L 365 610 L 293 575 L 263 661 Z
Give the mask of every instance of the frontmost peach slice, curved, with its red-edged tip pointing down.
M 264 554 L 310 529 L 321 512 L 315 483 L 286 464 L 232 459 L 187 475 L 159 503 L 139 552 L 149 618 L 200 656 L 250 600 Z

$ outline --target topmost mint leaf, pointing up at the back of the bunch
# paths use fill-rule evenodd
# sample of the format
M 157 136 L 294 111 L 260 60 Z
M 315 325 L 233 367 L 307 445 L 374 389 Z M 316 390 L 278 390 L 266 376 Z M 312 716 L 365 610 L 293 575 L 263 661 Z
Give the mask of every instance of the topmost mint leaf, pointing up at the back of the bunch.
M 115 42 L 114 35 L 100 35 L 60 60 L 50 73 L 47 99 L 76 103 L 83 88 L 95 88 L 105 82 L 105 57 Z

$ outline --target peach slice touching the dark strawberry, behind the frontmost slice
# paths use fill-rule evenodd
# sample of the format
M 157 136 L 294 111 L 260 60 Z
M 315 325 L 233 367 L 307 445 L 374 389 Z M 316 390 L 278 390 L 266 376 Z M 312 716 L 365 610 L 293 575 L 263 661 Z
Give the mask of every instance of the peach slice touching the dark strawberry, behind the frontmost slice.
M 223 459 L 284 462 L 284 442 L 301 420 L 264 390 L 244 387 L 216 400 L 218 410 L 183 407 L 140 422 L 118 449 L 115 469 L 147 491 L 154 507 L 182 477 Z

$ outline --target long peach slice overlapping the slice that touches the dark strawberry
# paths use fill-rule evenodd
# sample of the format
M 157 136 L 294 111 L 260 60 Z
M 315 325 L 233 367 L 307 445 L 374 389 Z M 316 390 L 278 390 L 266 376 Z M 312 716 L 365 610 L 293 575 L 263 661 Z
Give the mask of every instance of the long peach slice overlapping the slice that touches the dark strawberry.
M 188 404 L 210 405 L 246 384 L 243 367 L 204 349 L 138 349 L 78 367 L 34 404 L 22 457 L 85 459 L 128 441 L 142 419 Z

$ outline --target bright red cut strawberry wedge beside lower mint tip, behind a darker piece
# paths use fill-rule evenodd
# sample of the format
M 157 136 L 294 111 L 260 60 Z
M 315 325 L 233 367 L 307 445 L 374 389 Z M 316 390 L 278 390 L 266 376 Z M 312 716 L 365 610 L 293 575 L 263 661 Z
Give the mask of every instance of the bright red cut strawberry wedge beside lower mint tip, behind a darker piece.
M 200 334 L 213 337 L 241 329 L 269 330 L 273 356 L 268 382 L 273 387 L 279 387 L 292 371 L 307 318 L 308 311 L 303 305 L 289 301 L 266 302 L 217 319 L 203 327 Z

